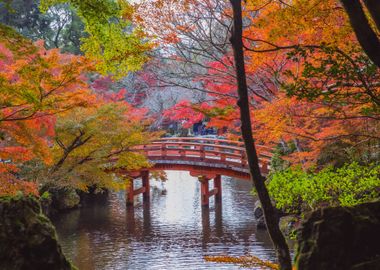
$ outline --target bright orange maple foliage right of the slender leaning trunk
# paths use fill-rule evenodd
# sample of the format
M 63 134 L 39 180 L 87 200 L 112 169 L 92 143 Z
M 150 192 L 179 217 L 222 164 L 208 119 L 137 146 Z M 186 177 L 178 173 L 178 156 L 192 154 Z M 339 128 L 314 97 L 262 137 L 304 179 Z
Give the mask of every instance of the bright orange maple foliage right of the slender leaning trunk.
M 306 167 L 320 163 L 323 152 L 341 142 L 347 150 L 372 152 L 363 157 L 378 152 L 373 142 L 378 140 L 379 70 L 360 49 L 340 3 L 263 3 L 249 2 L 252 9 L 262 8 L 245 34 L 247 54 L 255 59 L 248 69 L 271 65 L 277 87 L 255 119 L 256 130 L 273 137 L 257 132 L 257 139 L 269 143 L 271 138 L 272 145 L 292 141 L 297 147 L 290 160 Z M 280 20 L 284 24 L 275 23 Z

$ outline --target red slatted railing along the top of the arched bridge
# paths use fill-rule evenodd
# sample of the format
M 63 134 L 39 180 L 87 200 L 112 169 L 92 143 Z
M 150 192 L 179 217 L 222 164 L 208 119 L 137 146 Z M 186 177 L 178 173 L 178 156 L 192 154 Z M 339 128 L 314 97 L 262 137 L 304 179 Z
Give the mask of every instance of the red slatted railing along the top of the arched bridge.
M 247 167 L 244 143 L 239 141 L 203 137 L 160 138 L 138 149 L 151 160 L 198 160 Z M 257 146 L 261 167 L 266 167 L 266 170 L 272 156 L 270 150 L 268 147 Z

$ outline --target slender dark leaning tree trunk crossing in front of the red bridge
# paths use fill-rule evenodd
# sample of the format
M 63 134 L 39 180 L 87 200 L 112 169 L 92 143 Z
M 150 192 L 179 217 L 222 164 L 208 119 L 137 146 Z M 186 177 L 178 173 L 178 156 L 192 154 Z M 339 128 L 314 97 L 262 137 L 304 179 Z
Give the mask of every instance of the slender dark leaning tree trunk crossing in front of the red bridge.
M 243 51 L 243 21 L 241 0 L 230 0 L 233 8 L 233 30 L 231 43 L 234 50 L 235 70 L 238 84 L 238 106 L 240 107 L 241 133 L 243 136 L 245 149 L 247 151 L 248 165 L 253 184 L 263 208 L 265 222 L 269 235 L 277 252 L 278 262 L 281 270 L 291 270 L 292 263 L 289 254 L 289 247 L 279 228 L 279 218 L 275 212 L 265 186 L 265 178 L 261 175 L 259 160 L 252 136 L 252 125 L 248 99 L 247 79 L 244 65 Z

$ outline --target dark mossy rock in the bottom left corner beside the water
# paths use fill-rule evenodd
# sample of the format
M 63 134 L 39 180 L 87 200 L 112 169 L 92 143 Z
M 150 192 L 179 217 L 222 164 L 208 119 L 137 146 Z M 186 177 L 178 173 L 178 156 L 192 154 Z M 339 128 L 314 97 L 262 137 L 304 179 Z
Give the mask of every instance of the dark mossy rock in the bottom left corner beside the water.
M 0 198 L 0 269 L 72 270 L 33 197 Z

